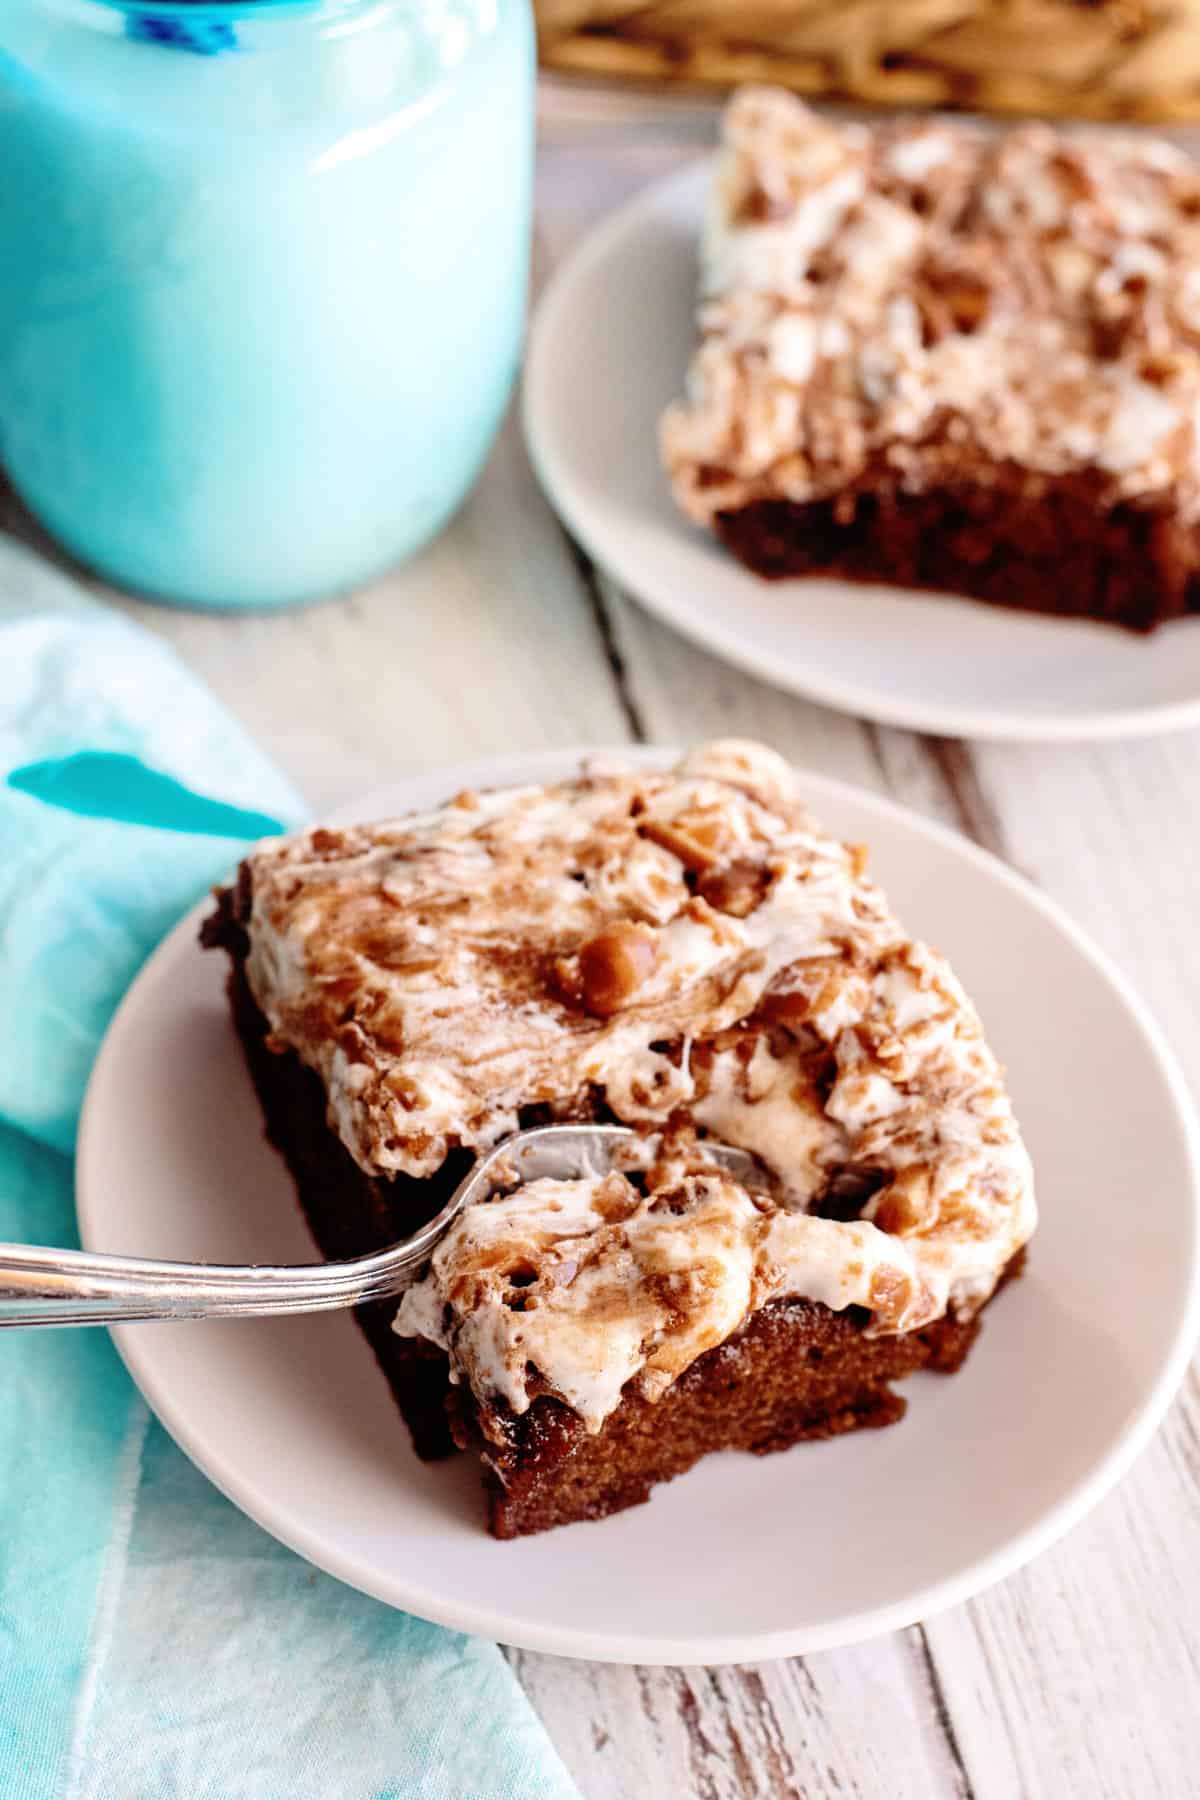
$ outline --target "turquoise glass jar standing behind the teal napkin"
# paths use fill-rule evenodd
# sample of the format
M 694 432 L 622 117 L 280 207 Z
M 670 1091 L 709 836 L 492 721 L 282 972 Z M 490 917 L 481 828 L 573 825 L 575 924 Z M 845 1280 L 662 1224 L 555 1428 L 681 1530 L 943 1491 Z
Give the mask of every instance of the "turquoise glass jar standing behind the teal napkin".
M 277 607 L 425 542 L 522 337 L 527 0 L 0 0 L 0 459 L 112 580 Z

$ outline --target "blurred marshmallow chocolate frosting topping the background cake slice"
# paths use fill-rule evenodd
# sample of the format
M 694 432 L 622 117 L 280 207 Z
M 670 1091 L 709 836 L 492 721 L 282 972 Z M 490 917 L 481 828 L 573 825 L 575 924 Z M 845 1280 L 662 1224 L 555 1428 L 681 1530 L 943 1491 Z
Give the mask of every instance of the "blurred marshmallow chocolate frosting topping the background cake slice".
M 660 432 L 698 524 L 997 466 L 1200 517 L 1200 169 L 1169 144 L 743 88 L 698 324 Z

